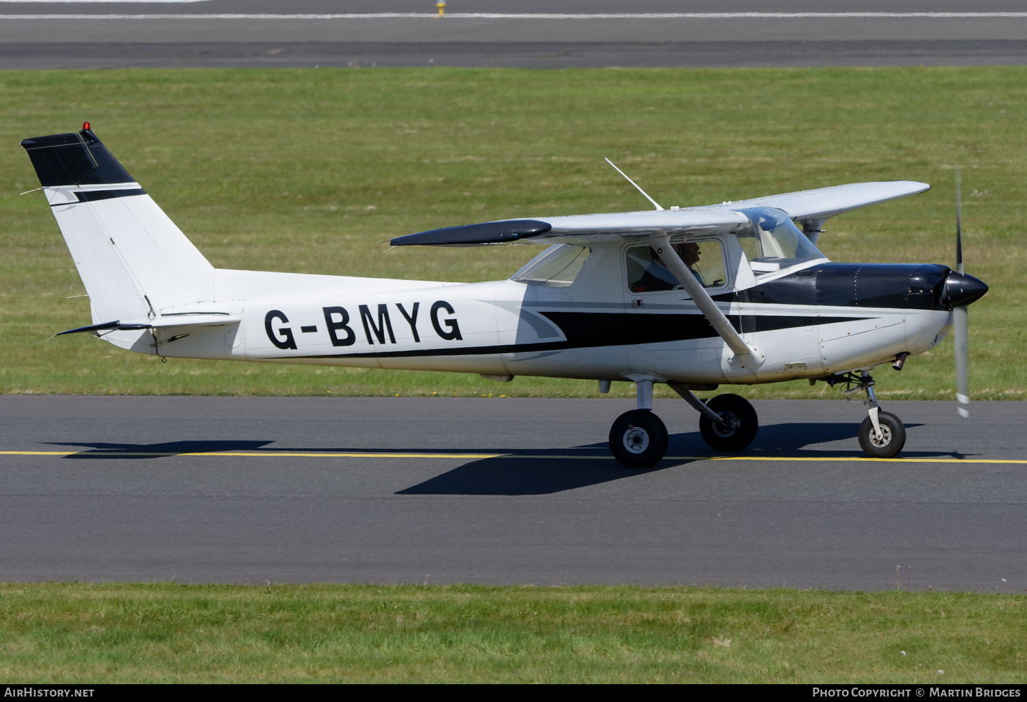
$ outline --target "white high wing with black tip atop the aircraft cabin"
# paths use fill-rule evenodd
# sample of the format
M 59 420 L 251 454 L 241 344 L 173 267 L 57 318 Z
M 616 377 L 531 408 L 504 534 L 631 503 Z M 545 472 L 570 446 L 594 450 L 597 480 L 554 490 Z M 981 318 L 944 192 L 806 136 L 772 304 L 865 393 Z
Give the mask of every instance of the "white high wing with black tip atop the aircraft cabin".
M 926 183 L 884 181 L 768 195 L 752 200 L 683 209 L 575 215 L 530 220 L 500 220 L 462 227 L 445 227 L 392 239 L 393 246 L 476 246 L 498 243 L 587 243 L 601 240 L 647 238 L 652 235 L 733 233 L 750 226 L 738 211 L 749 207 L 776 207 L 795 222 L 819 229 L 828 218 L 879 202 L 929 190 Z

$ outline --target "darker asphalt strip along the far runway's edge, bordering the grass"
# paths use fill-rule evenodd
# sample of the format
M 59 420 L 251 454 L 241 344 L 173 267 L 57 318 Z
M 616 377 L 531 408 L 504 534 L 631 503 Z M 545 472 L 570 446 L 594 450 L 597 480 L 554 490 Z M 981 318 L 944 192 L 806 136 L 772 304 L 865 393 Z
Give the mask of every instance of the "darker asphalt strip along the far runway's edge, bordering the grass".
M 1023 66 L 1023 41 L 0 43 L 0 70 Z

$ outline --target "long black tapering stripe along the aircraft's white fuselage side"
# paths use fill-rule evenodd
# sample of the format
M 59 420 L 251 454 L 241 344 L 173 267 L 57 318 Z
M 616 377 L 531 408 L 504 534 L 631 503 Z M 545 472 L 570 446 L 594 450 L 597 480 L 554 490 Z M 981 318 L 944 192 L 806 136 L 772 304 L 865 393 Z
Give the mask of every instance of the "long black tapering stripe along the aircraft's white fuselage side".
M 496 344 L 444 349 L 410 349 L 405 351 L 364 351 L 359 353 L 329 353 L 294 358 L 411 358 L 419 356 L 478 356 L 500 353 L 532 353 L 565 351 L 607 346 L 637 346 L 667 342 L 711 339 L 717 336 L 707 318 L 700 314 L 644 314 L 604 312 L 539 312 L 553 321 L 567 338 L 559 342 L 533 344 Z M 738 315 L 730 321 L 738 329 Z M 797 326 L 837 324 L 865 317 L 822 317 L 793 315 L 760 316 L 761 332 L 788 329 Z

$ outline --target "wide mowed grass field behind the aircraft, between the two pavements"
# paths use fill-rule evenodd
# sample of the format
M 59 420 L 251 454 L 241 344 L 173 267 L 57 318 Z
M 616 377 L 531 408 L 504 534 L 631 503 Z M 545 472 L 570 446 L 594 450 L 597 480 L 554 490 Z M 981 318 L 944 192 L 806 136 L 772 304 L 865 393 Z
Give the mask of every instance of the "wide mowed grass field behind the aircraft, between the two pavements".
M 583 381 L 161 364 L 86 335 L 47 341 L 88 323 L 88 302 L 42 195 L 18 195 L 38 185 L 18 142 L 89 120 L 216 266 L 459 281 L 506 277 L 540 249 L 381 242 L 647 208 L 604 156 L 664 206 L 925 181 L 831 220 L 821 245 L 836 261 L 952 265 L 958 161 L 966 269 L 991 286 L 971 313 L 972 395 L 1024 398 L 1025 85 L 1020 67 L 0 73 L 0 393 L 597 395 Z M 951 398 L 951 341 L 878 372 L 877 390 Z M 733 391 L 840 396 L 804 381 Z

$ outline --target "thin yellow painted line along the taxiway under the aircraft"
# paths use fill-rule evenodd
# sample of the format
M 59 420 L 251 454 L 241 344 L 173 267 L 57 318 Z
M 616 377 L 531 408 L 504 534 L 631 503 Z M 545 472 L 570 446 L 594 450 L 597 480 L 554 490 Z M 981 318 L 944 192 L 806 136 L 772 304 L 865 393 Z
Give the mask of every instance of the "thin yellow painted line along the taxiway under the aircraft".
M 210 458 L 373 458 L 373 459 L 543 459 L 543 460 L 613 460 L 612 456 L 581 456 L 571 454 L 555 455 L 524 455 L 524 454 L 390 454 L 387 452 L 364 452 L 364 453 L 320 453 L 320 452 L 239 452 L 239 451 L 211 451 L 211 452 L 122 452 L 122 451 L 0 451 L 0 456 L 88 456 L 88 457 L 152 457 L 163 458 L 170 456 L 202 456 Z M 1014 459 L 942 459 L 942 458 L 892 458 L 880 459 L 869 456 L 668 456 L 664 461 L 764 461 L 764 462 L 821 462 L 821 463 L 864 463 L 867 461 L 886 461 L 889 463 L 1011 463 L 1027 464 L 1027 460 Z

